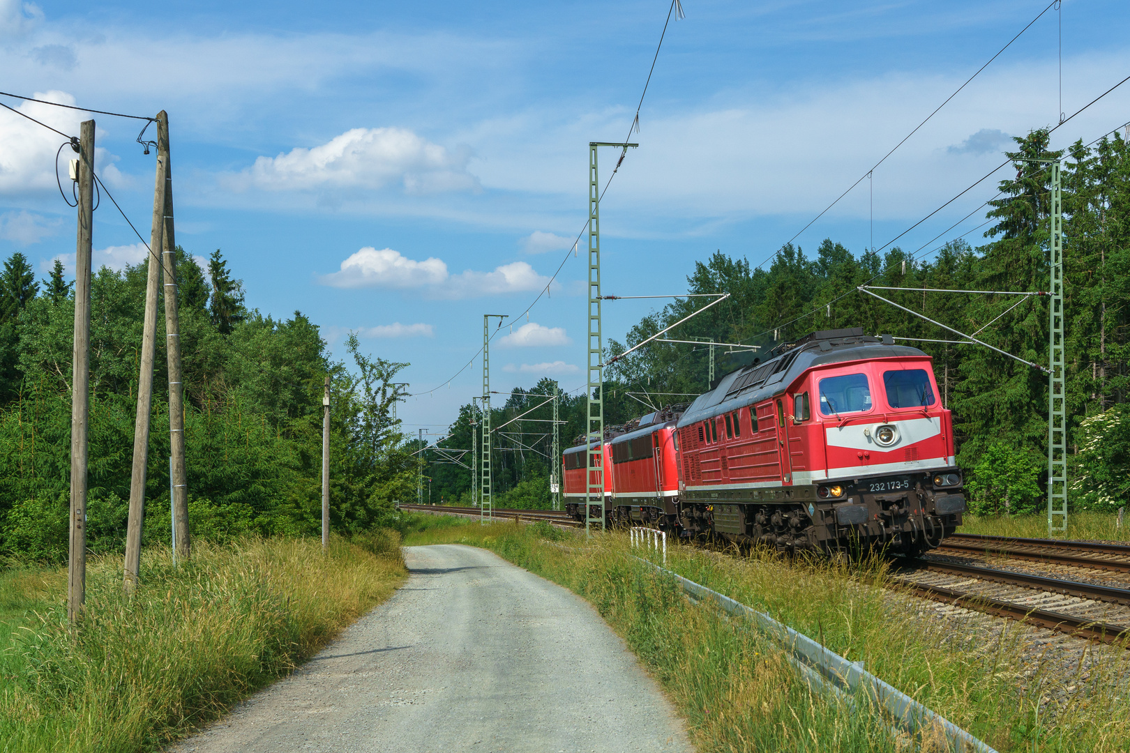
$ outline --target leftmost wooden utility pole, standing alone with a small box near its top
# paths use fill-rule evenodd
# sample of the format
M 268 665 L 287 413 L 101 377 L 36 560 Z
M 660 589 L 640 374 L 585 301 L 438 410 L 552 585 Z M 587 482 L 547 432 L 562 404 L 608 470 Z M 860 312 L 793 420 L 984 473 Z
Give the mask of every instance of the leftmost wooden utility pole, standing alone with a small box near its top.
M 67 618 L 86 601 L 86 437 L 90 414 L 90 245 L 94 242 L 94 121 L 82 121 L 78 151 L 75 249 L 75 351 L 71 359 L 71 499 Z

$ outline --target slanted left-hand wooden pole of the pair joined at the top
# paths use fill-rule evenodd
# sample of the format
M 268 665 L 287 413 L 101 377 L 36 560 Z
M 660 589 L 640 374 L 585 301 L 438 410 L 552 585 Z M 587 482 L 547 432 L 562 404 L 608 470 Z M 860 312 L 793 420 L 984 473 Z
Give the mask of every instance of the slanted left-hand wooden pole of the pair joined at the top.
M 137 585 L 141 562 L 141 528 L 145 523 L 145 481 L 149 464 L 149 413 L 153 409 L 153 365 L 157 352 L 157 296 L 160 286 L 160 253 L 165 237 L 165 165 L 168 149 L 160 149 L 160 128 L 168 115 L 157 115 L 157 177 L 153 189 L 153 229 L 149 233 L 149 274 L 145 288 L 145 330 L 141 335 L 141 368 L 138 371 L 138 412 L 133 423 L 133 474 L 130 478 L 130 519 L 125 532 L 125 590 Z M 167 146 L 167 135 L 164 139 Z

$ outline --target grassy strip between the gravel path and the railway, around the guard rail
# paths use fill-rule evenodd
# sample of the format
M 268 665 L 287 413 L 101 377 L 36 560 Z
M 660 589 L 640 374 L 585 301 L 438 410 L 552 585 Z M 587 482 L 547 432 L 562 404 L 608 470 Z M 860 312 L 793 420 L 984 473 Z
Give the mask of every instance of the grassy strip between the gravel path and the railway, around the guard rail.
M 808 692 L 780 651 L 753 631 L 684 598 L 634 561 L 627 536 L 582 536 L 546 524 L 451 525 L 406 544 L 489 549 L 591 602 L 654 674 L 699 751 L 942 750 L 903 747 L 872 713 Z M 1033 649 L 1023 629 L 941 620 L 895 597 L 885 564 L 785 562 L 669 546 L 668 568 L 819 640 L 1002 752 L 1114 753 L 1130 741 L 1124 650 L 1096 650 L 1066 667 Z M 866 699 L 851 699 L 857 704 Z

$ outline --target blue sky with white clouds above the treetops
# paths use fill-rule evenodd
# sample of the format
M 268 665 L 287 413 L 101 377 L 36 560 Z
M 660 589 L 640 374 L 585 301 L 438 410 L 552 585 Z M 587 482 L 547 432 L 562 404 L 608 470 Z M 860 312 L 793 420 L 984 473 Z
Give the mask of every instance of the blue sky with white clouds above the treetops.
M 601 204 L 605 292 L 679 292 L 715 248 L 771 257 L 1044 5 L 685 0 L 633 135 L 641 146 Z M 415 434 L 440 430 L 480 391 L 477 366 L 452 376 L 481 344 L 483 314 L 525 310 L 572 246 L 588 142 L 627 133 L 667 10 L 666 0 L 339 0 L 172 2 L 157 14 L 0 0 L 0 90 L 167 110 L 179 243 L 200 256 L 221 248 L 250 306 L 302 310 L 339 356 L 355 330 L 374 354 L 411 364 L 412 392 L 442 387 L 400 409 Z M 1128 20 L 1124 1 L 1063 3 L 1068 114 L 1130 73 Z M 1008 135 L 1057 122 L 1058 24 L 1049 11 L 876 170 L 876 245 L 996 166 Z M 1054 145 L 1130 120 L 1125 88 Z M 3 102 L 68 133 L 84 117 Z M 133 142 L 139 124 L 96 120 L 96 168 L 147 225 L 153 156 Z M 0 111 L 0 256 L 20 251 L 41 274 L 73 260 L 73 210 L 51 175 L 60 141 Z M 614 152 L 602 160 L 607 176 Z M 861 251 L 868 189 L 797 242 Z M 983 184 L 899 245 L 918 249 L 992 193 Z M 104 203 L 95 262 L 141 254 Z M 504 325 L 492 349 L 498 389 L 544 375 L 583 384 L 584 274 L 582 245 L 529 321 Z M 605 332 L 623 339 L 647 310 L 607 304 Z

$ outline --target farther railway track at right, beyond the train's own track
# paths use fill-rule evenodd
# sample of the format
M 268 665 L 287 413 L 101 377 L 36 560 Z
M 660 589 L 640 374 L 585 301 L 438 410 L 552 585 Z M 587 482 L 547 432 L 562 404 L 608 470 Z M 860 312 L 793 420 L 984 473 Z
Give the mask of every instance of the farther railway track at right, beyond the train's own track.
M 939 554 L 1005 557 L 1074 568 L 1130 572 L 1130 546 L 1125 544 L 955 534 L 945 539 L 933 551 Z

